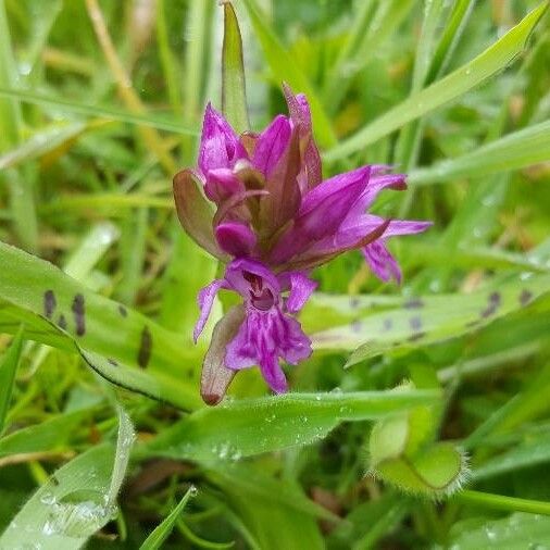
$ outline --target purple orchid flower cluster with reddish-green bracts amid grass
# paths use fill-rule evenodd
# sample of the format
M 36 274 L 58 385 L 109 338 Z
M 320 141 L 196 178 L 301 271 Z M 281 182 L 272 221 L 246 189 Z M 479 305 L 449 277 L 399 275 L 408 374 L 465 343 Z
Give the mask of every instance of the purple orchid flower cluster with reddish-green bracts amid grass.
M 195 341 L 216 293 L 237 292 L 242 305 L 232 315 L 233 328 L 224 330 L 223 366 L 236 372 L 259 365 L 275 392 L 287 390 L 280 361 L 296 365 L 312 351 L 296 318 L 316 287 L 311 271 L 360 249 L 375 275 L 400 282 L 386 240 L 430 225 L 367 213 L 383 189 L 405 188 L 404 174 L 390 174 L 387 166 L 361 166 L 323 180 L 307 98 L 286 85 L 284 93 L 289 116 L 276 116 L 260 134 L 237 135 L 209 104 L 198 167 L 174 178 L 184 228 L 226 264 L 223 278 L 199 293 Z

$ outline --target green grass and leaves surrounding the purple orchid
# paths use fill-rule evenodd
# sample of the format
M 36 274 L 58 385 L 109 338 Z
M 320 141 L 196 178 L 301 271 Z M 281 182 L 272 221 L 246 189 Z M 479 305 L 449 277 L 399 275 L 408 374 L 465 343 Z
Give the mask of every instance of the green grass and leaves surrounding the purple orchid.
M 253 128 L 288 82 L 325 176 L 391 164 L 375 211 L 435 226 L 391 242 L 400 288 L 315 272 L 290 395 L 251 370 L 205 408 L 218 266 L 171 178 L 221 107 L 222 10 L 0 0 L 0 549 L 550 548 L 547 2 L 234 3 Z

